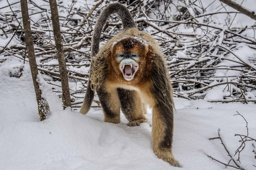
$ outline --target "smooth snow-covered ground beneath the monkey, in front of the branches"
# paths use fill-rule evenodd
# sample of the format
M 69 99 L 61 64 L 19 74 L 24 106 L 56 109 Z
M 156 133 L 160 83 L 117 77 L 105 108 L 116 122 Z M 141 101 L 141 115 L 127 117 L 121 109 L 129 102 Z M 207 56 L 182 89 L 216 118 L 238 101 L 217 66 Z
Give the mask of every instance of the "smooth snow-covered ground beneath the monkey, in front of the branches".
M 22 76 L 10 77 L 20 66 L 24 66 Z M 247 134 L 246 122 L 236 111 L 248 121 L 249 136 L 256 136 L 256 105 L 176 98 L 173 153 L 183 167 L 175 168 L 154 155 L 148 123 L 128 127 L 124 115 L 120 124 L 105 123 L 101 109 L 91 109 L 87 115 L 63 111 L 62 102 L 47 84 L 44 91 L 51 116 L 40 122 L 29 65 L 15 60 L 1 63 L 1 170 L 219 170 L 225 166 L 206 154 L 224 163 L 230 158 L 219 139 L 209 138 L 218 137 L 220 128 L 234 154 L 240 146 L 234 134 Z M 146 117 L 151 123 L 151 113 Z M 249 141 L 240 154 L 242 166 L 250 170 L 256 165 L 252 151 Z

